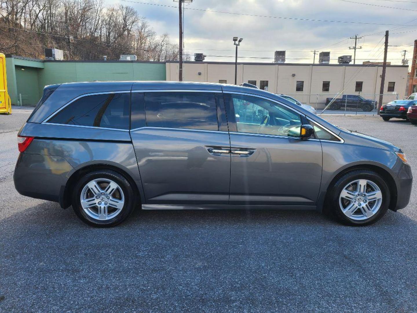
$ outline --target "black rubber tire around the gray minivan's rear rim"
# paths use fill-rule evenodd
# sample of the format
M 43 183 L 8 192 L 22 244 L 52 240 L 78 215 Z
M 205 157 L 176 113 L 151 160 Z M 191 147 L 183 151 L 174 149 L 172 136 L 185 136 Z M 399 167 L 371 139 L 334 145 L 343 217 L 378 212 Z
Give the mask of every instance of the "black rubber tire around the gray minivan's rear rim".
M 94 179 L 109 179 L 118 184 L 118 186 L 121 188 L 123 192 L 123 208 L 115 217 L 111 219 L 95 219 L 89 216 L 81 206 L 81 192 L 83 191 L 85 185 Z M 79 179 L 77 184 L 75 184 L 72 195 L 72 206 L 75 214 L 86 224 L 95 227 L 113 227 L 120 224 L 121 222 L 126 220 L 126 218 L 128 218 L 129 215 L 131 215 L 133 209 L 136 206 L 135 202 L 136 197 L 134 195 L 133 186 L 131 185 L 131 183 L 129 183 L 128 180 L 125 177 L 123 177 L 123 175 L 111 170 L 99 170 L 84 175 Z M 114 210 L 114 208 L 112 207 L 110 207 L 110 209 Z

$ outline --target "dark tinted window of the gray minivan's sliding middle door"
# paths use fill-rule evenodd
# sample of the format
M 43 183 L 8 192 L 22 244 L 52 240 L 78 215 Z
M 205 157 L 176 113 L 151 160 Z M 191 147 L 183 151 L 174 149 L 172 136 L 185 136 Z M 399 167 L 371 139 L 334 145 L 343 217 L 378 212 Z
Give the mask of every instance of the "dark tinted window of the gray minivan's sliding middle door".
M 151 127 L 219 130 L 214 93 L 145 93 L 145 112 Z

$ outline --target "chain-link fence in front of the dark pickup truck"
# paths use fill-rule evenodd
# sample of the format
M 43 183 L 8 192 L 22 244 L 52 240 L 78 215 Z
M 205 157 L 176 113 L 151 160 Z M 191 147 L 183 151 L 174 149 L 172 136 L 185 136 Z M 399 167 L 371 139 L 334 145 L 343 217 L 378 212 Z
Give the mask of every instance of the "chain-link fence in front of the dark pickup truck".
M 317 115 L 376 115 L 380 103 L 386 104 L 399 100 L 397 93 L 387 94 L 286 94 L 302 104 L 312 106 Z

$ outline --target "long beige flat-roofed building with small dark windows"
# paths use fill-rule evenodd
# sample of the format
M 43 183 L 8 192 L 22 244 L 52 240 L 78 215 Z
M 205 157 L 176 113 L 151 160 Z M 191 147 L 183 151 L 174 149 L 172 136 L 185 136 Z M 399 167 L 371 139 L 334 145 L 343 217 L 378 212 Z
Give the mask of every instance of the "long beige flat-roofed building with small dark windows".
M 383 102 L 404 97 L 408 66 L 387 66 Z M 268 87 L 297 100 L 324 106 L 327 97 L 338 93 L 360 94 L 378 100 L 382 66 L 377 64 L 238 63 L 237 83 Z M 234 83 L 235 63 L 185 62 L 183 81 Z M 166 80 L 178 81 L 178 61 L 166 62 Z

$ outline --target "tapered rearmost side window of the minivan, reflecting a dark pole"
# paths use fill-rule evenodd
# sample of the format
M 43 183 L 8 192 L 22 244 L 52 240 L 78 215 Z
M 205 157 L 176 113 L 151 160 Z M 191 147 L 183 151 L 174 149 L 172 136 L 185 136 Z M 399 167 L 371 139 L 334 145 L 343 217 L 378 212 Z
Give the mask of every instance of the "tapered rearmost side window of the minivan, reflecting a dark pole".
M 130 93 L 84 96 L 53 116 L 55 124 L 129 129 Z

